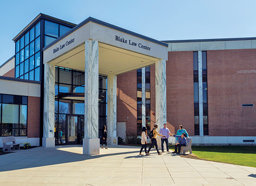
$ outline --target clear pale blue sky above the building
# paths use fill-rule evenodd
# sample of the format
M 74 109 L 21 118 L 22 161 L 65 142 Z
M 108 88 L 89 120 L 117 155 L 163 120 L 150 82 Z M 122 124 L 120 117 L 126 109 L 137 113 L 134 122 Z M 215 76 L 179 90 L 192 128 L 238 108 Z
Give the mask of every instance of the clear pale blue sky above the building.
M 91 16 L 156 40 L 256 37 L 256 0 L 0 0 L 0 65 L 39 13 L 75 24 Z

